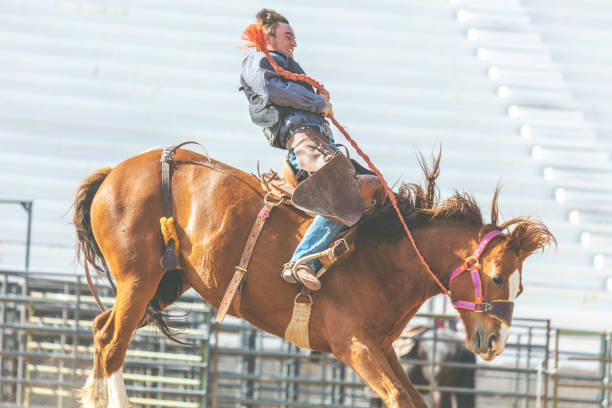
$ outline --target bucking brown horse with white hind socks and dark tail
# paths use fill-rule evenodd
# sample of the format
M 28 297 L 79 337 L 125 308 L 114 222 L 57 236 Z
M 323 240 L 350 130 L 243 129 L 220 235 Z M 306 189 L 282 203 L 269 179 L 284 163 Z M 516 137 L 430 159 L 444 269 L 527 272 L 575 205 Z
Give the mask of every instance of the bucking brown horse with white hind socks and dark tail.
M 219 307 L 263 203 L 256 177 L 179 149 L 172 162 L 172 201 L 181 271 L 164 276 L 160 154 L 145 152 L 99 170 L 76 192 L 77 252 L 99 271 L 110 270 L 117 290 L 114 307 L 94 320 L 93 374 L 82 399 L 88 406 L 128 406 L 122 365 L 130 336 L 150 317 L 160 322 L 160 310 L 180 293 L 192 287 Z M 485 300 L 513 300 L 522 291 L 523 261 L 554 241 L 553 236 L 544 224 L 528 218 L 497 225 L 497 191 L 489 224 L 467 194 L 440 202 L 435 184 L 439 161 L 438 156 L 431 169 L 421 162 L 424 187 L 402 185 L 396 194 L 418 248 L 447 284 L 484 234 L 505 230 L 482 254 L 480 276 Z M 388 201 L 364 216 L 355 252 L 334 266 L 323 277 L 323 288 L 312 295 L 310 346 L 353 368 L 387 406 L 425 407 L 392 343 L 423 302 L 441 289 L 425 272 Z M 279 274 L 310 222 L 290 205 L 274 208 L 246 275 L 240 314 L 277 336 L 285 332 L 297 293 Z M 467 275 L 453 282 L 452 296 L 474 296 Z M 460 314 L 471 351 L 487 360 L 503 351 L 504 325 L 484 313 Z

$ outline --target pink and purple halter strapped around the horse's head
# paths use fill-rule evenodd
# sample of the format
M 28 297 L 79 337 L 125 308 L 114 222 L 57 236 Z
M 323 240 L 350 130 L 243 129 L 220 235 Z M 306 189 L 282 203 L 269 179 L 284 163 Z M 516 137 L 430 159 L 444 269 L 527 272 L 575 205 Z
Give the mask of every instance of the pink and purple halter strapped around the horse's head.
M 510 300 L 493 300 L 491 302 L 482 301 L 482 282 L 480 280 L 480 274 L 478 273 L 478 270 L 480 269 L 480 263 L 478 260 L 489 242 L 491 242 L 491 240 L 497 236 L 504 236 L 504 233 L 501 231 L 491 231 L 482 239 L 482 241 L 480 241 L 480 244 L 474 251 L 474 254 L 467 258 L 463 265 L 455 269 L 455 271 L 452 273 L 450 279 L 448 280 L 448 287 L 450 289 L 453 279 L 461 275 L 463 272 L 469 271 L 470 275 L 472 276 L 472 283 L 474 284 L 474 301 L 467 302 L 465 300 L 457 300 L 456 302 L 453 302 L 455 309 L 465 309 L 474 312 L 486 313 L 494 319 L 499 320 L 507 327 L 510 327 L 512 322 L 512 311 L 514 310 L 514 302 Z

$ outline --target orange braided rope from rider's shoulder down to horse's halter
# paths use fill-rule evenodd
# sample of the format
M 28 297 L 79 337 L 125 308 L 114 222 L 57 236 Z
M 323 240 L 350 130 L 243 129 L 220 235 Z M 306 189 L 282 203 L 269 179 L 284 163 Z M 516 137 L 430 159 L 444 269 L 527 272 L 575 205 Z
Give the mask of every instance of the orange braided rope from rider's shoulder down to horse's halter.
M 270 64 L 272 64 L 272 67 L 274 68 L 274 71 L 276 71 L 277 74 L 283 76 L 284 78 L 291 79 L 293 81 L 303 81 L 303 82 L 306 82 L 306 83 L 312 85 L 313 87 L 315 87 L 317 90 L 325 89 L 325 87 L 321 83 L 315 81 L 314 79 L 312 79 L 308 75 L 294 74 L 293 72 L 289 72 L 289 71 L 281 68 L 280 66 L 278 66 L 278 64 L 276 63 L 274 58 L 272 58 L 272 56 L 268 52 L 268 47 L 266 46 L 266 34 L 264 33 L 264 31 L 262 29 L 261 22 L 257 22 L 257 23 L 254 23 L 254 24 L 251 24 L 250 26 L 248 26 L 244 30 L 244 32 L 242 33 L 242 37 L 241 38 L 244 41 L 247 41 L 247 44 L 246 44 L 245 48 L 255 47 L 258 51 L 261 51 L 264 54 L 266 54 L 266 57 L 268 58 L 268 61 L 270 62 Z M 395 209 L 395 212 L 397 213 L 397 216 L 399 217 L 400 221 L 402 222 L 402 226 L 404 227 L 404 230 L 406 231 L 406 235 L 408 235 L 408 238 L 410 239 L 410 242 L 412 243 L 412 247 L 414 248 L 414 250 L 415 250 L 417 256 L 419 257 L 419 260 L 423 264 L 423 266 L 425 266 L 425 270 L 436 281 L 436 283 L 438 284 L 440 289 L 442 289 L 442 291 L 446 295 L 450 296 L 450 293 L 448 292 L 448 290 L 446 290 L 446 287 L 444 287 L 442 282 L 440 282 L 440 279 L 438 279 L 438 277 L 436 275 L 434 275 L 434 273 L 431 271 L 431 268 L 427 264 L 427 261 L 425 261 L 425 258 L 423 258 L 423 255 L 421 255 L 421 251 L 419 251 L 419 248 L 417 247 L 416 242 L 414 242 L 414 238 L 412 237 L 412 233 L 410 233 L 410 229 L 408 228 L 408 225 L 406 225 L 406 221 L 404 220 L 404 217 L 402 216 L 402 213 L 400 212 L 399 206 L 397 205 L 397 198 L 395 197 L 395 194 L 393 193 L 393 191 L 391 190 L 391 188 L 387 184 L 387 182 L 386 182 L 385 178 L 383 177 L 382 173 L 380 172 L 380 170 L 378 170 L 378 168 L 374 165 L 374 163 L 372 163 L 372 161 L 370 160 L 368 155 L 365 154 L 365 152 L 363 150 L 361 150 L 361 148 L 357 145 L 357 143 L 349 136 L 349 134 L 346 131 L 346 129 L 344 129 L 344 127 L 342 125 L 340 125 L 340 123 L 338 123 L 338 121 L 333 116 L 333 114 L 329 115 L 328 118 L 338 128 L 338 130 L 340 130 L 340 132 L 344 135 L 346 140 L 349 141 L 349 143 L 351 144 L 351 146 L 353 146 L 353 148 L 357 151 L 357 153 L 359 153 L 359 155 L 366 161 L 366 163 L 368 164 L 370 169 L 374 173 L 376 173 L 376 176 L 378 176 L 378 179 L 380 180 L 381 184 L 385 188 L 385 191 L 387 192 L 387 195 L 389 196 L 389 199 L 391 200 L 391 204 L 393 204 L 393 208 Z

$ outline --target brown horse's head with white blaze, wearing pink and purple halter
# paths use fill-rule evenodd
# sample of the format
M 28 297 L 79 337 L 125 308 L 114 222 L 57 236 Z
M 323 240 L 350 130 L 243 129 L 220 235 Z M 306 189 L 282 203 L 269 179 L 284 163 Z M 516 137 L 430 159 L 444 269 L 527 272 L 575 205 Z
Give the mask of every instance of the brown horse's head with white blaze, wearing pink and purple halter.
M 509 234 L 499 230 L 514 225 Z M 523 291 L 523 261 L 555 242 L 540 221 L 516 218 L 485 234 L 451 276 L 451 297 L 466 331 L 466 347 L 491 361 L 504 351 L 514 300 Z

